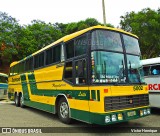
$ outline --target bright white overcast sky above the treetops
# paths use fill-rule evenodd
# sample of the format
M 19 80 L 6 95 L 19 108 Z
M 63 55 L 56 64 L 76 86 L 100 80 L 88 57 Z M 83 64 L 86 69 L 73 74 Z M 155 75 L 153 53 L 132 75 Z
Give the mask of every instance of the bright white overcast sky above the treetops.
M 157 10 L 160 0 L 105 0 L 106 22 L 118 27 L 120 16 L 148 7 Z M 0 0 L 0 11 L 21 25 L 31 24 L 32 20 L 71 23 L 87 18 L 103 23 L 102 0 Z

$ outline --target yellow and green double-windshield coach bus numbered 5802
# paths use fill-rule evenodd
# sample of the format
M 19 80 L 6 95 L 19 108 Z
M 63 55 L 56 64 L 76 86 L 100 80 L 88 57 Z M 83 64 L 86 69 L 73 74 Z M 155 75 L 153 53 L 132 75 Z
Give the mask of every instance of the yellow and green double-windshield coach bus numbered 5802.
M 16 106 L 107 125 L 150 114 L 138 37 L 93 26 L 67 35 L 10 65 Z

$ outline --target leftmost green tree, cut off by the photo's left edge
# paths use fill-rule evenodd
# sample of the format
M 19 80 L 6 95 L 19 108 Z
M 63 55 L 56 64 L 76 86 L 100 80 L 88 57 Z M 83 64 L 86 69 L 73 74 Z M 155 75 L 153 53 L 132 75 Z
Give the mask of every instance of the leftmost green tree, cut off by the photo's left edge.
M 7 13 L 0 12 L 0 62 L 9 63 L 17 52 L 16 35 L 18 21 Z

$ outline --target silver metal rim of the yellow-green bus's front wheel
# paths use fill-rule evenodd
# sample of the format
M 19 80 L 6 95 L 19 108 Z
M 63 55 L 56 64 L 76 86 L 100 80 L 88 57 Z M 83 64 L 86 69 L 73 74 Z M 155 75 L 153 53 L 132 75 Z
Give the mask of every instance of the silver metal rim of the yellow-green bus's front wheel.
M 62 102 L 60 105 L 60 115 L 62 118 L 67 118 L 69 113 L 68 104 L 66 102 Z

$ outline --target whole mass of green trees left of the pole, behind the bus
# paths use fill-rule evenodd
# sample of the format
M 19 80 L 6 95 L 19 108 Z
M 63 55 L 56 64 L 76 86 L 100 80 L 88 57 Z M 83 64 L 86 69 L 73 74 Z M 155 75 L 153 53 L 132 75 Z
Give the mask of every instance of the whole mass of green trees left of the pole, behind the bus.
M 94 18 L 87 18 L 68 24 L 33 20 L 31 24 L 21 26 L 15 18 L 0 12 L 0 61 L 11 63 L 20 60 L 65 35 L 95 25 L 101 24 Z M 2 46 L 5 47 L 2 49 Z

